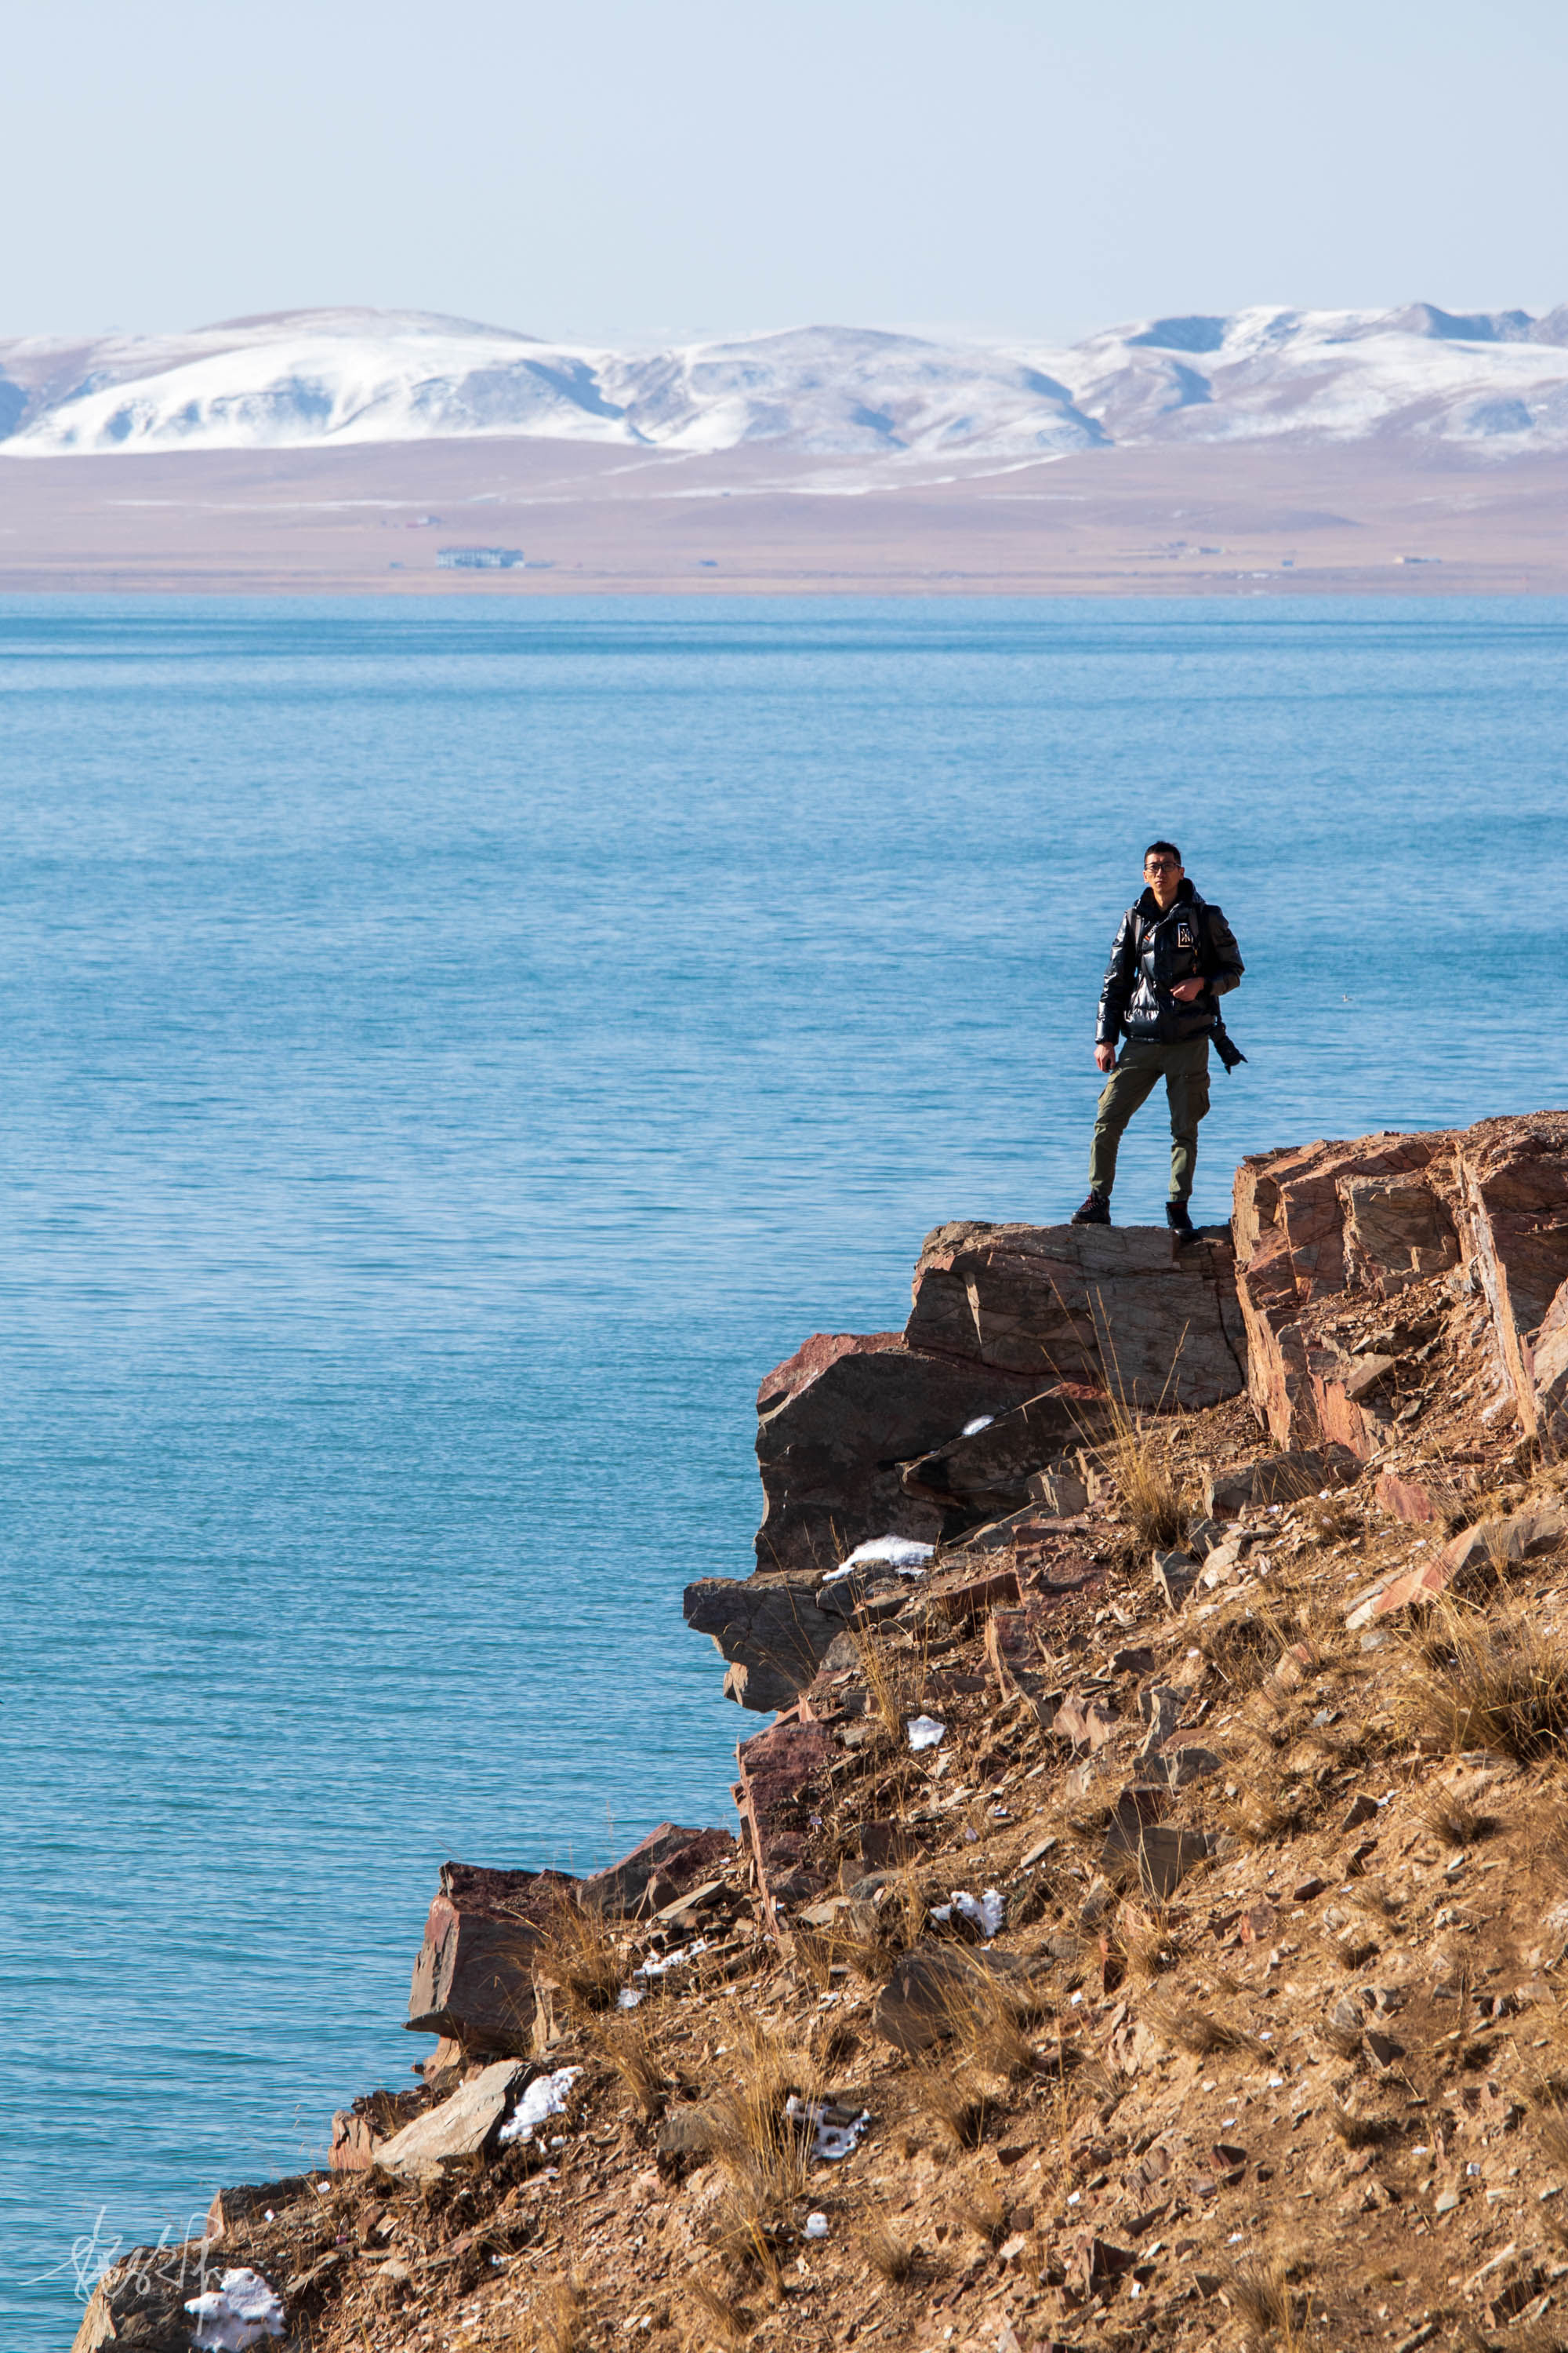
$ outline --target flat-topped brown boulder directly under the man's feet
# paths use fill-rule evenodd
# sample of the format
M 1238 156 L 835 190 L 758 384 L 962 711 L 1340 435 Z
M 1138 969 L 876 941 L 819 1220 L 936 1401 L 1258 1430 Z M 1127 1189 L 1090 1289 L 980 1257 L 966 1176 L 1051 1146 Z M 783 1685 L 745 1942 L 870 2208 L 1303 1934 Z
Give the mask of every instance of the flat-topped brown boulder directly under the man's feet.
M 905 1339 L 1128 1405 L 1194 1409 L 1244 1386 L 1225 1235 L 1173 1252 L 1157 1226 L 938 1226 Z

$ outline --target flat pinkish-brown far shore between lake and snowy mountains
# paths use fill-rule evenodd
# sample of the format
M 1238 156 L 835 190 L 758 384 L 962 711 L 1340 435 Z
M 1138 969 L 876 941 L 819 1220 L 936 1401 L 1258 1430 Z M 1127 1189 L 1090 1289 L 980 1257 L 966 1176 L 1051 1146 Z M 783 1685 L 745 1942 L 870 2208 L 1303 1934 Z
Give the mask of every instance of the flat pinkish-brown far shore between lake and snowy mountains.
M 1408 438 L 943 475 L 538 440 L 12 459 L 0 595 L 1563 595 L 1566 513 L 1568 454 Z

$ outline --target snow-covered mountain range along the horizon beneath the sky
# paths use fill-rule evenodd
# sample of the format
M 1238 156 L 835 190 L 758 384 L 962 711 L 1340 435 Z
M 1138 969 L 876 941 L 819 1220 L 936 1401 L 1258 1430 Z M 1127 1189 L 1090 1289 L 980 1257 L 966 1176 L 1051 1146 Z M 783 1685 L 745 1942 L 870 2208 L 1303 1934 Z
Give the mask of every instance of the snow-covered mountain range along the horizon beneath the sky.
M 1568 445 L 1568 306 L 1161 318 L 1067 351 L 863 327 L 616 353 L 407 311 L 0 344 L 0 454 L 473 435 L 1027 461 L 1088 447 L 1413 435 Z

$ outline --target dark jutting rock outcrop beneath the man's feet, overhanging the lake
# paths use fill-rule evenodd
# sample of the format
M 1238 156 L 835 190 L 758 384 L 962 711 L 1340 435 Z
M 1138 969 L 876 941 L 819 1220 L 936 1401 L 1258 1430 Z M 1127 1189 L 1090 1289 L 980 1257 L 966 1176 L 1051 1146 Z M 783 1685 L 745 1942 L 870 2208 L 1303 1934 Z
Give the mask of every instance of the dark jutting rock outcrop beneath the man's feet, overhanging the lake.
M 818 1332 L 762 1381 L 757 1572 L 689 1586 L 686 1621 L 731 1699 L 785 1708 L 844 1631 L 849 1595 L 823 1579 L 856 1546 L 985 1546 L 1018 1515 L 1081 1511 L 1077 1452 L 1112 1398 L 1194 1409 L 1244 1379 L 1222 1231 L 1175 1249 L 1147 1226 L 938 1226 L 903 1332 Z

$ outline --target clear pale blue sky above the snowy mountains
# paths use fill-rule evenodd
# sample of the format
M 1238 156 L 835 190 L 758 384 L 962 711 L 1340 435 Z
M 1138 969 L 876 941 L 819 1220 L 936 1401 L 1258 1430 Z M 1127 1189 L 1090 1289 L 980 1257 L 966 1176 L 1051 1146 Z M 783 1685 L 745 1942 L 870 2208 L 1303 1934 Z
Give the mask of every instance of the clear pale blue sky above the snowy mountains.
M 1568 296 L 1563 0 L 19 0 L 0 334 Z

